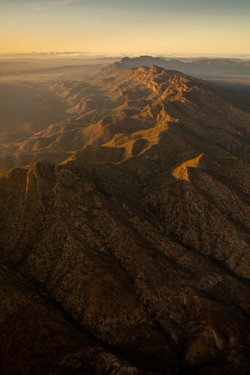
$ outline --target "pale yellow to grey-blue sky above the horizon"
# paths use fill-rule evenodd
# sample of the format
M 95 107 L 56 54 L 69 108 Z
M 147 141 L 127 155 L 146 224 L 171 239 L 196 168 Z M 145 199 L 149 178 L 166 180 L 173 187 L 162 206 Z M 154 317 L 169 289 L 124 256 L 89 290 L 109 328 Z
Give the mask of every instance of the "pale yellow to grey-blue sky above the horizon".
M 0 0 L 0 54 L 249 54 L 250 0 Z

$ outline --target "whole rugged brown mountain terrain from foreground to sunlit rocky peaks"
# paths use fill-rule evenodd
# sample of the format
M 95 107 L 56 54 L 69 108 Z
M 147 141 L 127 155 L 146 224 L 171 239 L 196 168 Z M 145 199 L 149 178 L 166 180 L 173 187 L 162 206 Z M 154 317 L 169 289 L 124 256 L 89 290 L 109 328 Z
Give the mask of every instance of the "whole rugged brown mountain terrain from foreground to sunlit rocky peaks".
M 67 74 L 23 78 L 55 111 L 0 134 L 1 373 L 249 374 L 249 107 L 156 65 Z

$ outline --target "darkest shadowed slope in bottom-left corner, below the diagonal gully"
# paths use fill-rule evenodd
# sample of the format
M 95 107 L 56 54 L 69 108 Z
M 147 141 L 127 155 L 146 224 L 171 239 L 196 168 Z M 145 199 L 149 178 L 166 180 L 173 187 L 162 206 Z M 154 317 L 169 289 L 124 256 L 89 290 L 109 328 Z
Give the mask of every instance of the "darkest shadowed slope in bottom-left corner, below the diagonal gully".
M 141 373 L 79 333 L 16 272 L 0 265 L 0 281 L 1 374 Z

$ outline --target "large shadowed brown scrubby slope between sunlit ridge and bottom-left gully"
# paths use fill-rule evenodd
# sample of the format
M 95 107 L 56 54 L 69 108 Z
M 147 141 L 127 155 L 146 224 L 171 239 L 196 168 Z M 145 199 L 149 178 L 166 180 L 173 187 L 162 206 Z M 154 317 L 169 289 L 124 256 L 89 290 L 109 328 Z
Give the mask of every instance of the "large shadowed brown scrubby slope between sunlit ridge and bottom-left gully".
M 211 182 L 194 191 L 202 158 L 146 186 L 127 162 L 14 169 L 1 180 L 2 261 L 134 366 L 247 374 L 249 239 L 229 218 L 237 189 L 217 207 Z

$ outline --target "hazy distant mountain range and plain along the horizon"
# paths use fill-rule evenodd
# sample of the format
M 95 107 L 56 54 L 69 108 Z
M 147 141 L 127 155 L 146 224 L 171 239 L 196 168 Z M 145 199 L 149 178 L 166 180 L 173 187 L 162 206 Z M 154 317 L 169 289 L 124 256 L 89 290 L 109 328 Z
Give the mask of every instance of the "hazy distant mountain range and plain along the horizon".
M 111 64 L 111 66 L 110 66 Z M 63 69 L 81 69 L 85 66 L 102 66 L 104 71 L 123 70 L 139 66 L 156 65 L 164 69 L 178 70 L 198 78 L 212 76 L 249 76 L 250 61 L 239 58 L 171 58 L 152 57 L 102 57 L 102 58 L 0 58 L 0 77 L 15 74 L 57 73 Z M 54 69 L 54 70 L 53 70 Z

